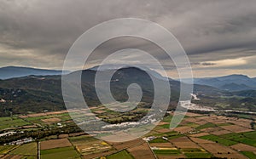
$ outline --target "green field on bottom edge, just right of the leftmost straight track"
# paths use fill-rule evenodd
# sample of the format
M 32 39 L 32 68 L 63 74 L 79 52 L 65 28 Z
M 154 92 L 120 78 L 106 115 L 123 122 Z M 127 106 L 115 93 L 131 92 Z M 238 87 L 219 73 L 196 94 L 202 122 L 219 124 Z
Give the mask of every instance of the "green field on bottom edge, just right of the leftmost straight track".
M 41 150 L 40 152 L 42 159 L 70 159 L 70 158 L 80 158 L 79 153 L 74 150 L 73 146 L 55 148 L 49 150 Z

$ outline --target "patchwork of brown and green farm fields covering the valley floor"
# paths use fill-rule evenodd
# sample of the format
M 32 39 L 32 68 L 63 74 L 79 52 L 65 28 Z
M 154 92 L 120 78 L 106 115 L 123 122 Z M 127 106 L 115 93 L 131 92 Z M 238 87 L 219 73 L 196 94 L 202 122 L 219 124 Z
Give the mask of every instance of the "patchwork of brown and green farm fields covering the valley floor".
M 113 106 L 113 109 L 117 106 Z M 103 107 L 95 107 L 93 111 L 97 116 L 107 117 Z M 119 115 L 110 114 L 114 120 L 118 119 Z M 84 120 L 83 113 L 73 111 L 72 116 L 76 116 L 78 121 Z M 90 114 L 88 116 L 90 117 Z M 43 159 L 169 159 L 214 156 L 256 158 L 256 131 L 251 127 L 250 119 L 189 112 L 183 122 L 172 130 L 169 129 L 171 120 L 172 114 L 166 116 L 158 126 L 146 134 L 145 138 L 154 137 L 148 141 L 135 139 L 123 143 L 109 143 L 83 132 L 49 134 L 44 139 L 26 144 L 0 145 L 0 158 L 32 159 L 38 158 L 39 155 Z M 61 128 L 57 123 L 61 123 L 61 126 L 73 123 L 65 111 L 0 117 L 0 122 L 3 123 L 0 125 L 3 133 L 15 129 L 34 131 L 42 128 Z

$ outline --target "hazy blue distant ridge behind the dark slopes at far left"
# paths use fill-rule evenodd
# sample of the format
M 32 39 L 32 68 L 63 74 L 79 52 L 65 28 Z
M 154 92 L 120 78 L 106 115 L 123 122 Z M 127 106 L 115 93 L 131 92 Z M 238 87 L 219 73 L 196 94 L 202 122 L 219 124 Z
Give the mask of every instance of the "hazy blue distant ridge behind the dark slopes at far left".
M 14 77 L 26 76 L 46 76 L 46 75 L 61 75 L 62 71 L 44 70 L 30 67 L 7 66 L 0 68 L 0 79 L 9 79 Z M 68 73 L 68 71 L 64 71 Z

